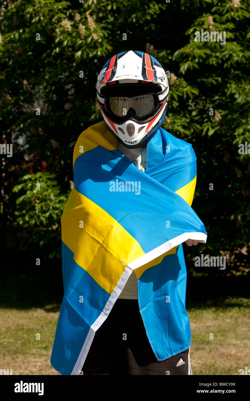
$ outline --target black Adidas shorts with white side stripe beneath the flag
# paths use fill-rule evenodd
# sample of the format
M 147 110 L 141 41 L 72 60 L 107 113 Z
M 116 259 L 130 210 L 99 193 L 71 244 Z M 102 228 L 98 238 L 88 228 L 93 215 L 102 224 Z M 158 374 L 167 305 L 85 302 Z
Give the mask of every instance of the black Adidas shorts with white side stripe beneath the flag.
M 118 299 L 96 331 L 81 375 L 191 375 L 189 351 L 159 362 L 146 335 L 138 300 Z

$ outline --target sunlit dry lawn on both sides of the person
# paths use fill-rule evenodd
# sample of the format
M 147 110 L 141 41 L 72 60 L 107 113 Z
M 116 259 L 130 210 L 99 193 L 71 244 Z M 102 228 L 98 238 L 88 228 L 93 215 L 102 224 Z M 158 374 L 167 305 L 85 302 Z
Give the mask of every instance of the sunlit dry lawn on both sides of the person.
M 192 374 L 238 375 L 250 367 L 250 300 L 228 296 L 220 305 L 207 303 L 187 307 Z M 0 309 L 1 369 L 12 369 L 13 375 L 59 375 L 49 362 L 59 307 Z

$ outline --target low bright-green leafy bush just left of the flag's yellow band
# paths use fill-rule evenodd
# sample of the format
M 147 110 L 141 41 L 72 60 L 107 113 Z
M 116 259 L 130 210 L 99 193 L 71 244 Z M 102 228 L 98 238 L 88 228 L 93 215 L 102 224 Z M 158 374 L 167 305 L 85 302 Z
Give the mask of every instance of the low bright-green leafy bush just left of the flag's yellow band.
M 13 228 L 19 230 L 19 247 L 32 249 L 34 242 L 39 244 L 41 251 L 45 245 L 51 249 L 49 258 L 61 257 L 61 215 L 68 194 L 61 194 L 55 174 L 41 172 L 26 174 L 20 179 L 20 184 L 13 187 L 13 192 L 20 195 L 16 199 L 16 216 Z M 51 247 L 52 245 L 52 247 Z

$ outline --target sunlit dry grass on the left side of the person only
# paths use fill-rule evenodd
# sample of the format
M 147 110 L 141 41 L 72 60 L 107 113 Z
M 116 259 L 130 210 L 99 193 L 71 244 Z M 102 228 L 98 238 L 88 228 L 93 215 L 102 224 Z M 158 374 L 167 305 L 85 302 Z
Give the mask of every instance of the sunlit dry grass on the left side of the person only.
M 39 308 L 0 309 L 1 368 L 13 375 L 60 375 L 50 364 L 58 315 Z

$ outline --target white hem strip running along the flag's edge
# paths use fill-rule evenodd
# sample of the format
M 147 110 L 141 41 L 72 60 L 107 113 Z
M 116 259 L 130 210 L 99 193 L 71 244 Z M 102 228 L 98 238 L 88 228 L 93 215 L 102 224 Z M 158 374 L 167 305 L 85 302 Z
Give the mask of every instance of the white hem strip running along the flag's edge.
M 81 368 L 83 367 L 83 364 L 84 364 L 87 354 L 89 352 L 89 349 L 92 344 L 93 338 L 95 336 L 96 330 L 98 330 L 98 328 L 100 328 L 100 326 L 102 326 L 103 322 L 106 320 L 106 318 L 110 314 L 118 296 L 122 292 L 132 271 L 134 269 L 137 269 L 140 266 L 145 265 L 146 263 L 152 261 L 153 259 L 156 259 L 158 256 L 162 255 L 163 253 L 170 251 L 170 249 L 187 241 L 187 239 L 196 239 L 196 240 L 199 240 L 199 242 L 201 242 L 201 243 L 206 243 L 207 235 L 204 233 L 199 233 L 199 232 L 198 233 L 196 233 L 196 232 L 183 233 L 181 235 L 178 235 L 178 237 L 175 237 L 175 238 L 165 242 L 164 244 L 160 245 L 159 247 L 152 249 L 152 251 L 146 253 L 145 255 L 138 257 L 138 259 L 134 260 L 133 262 L 129 263 L 126 266 L 126 268 L 125 268 L 124 272 L 122 273 L 118 283 L 116 284 L 112 294 L 110 295 L 110 298 L 108 299 L 108 302 L 106 303 L 106 305 L 104 307 L 104 310 L 102 311 L 100 316 L 98 316 L 96 321 L 90 327 L 87 337 L 81 348 L 81 352 L 80 352 L 80 354 L 77 358 L 77 361 L 75 363 L 75 366 L 73 368 L 73 371 L 71 372 L 71 375 L 78 376 L 80 374 Z

